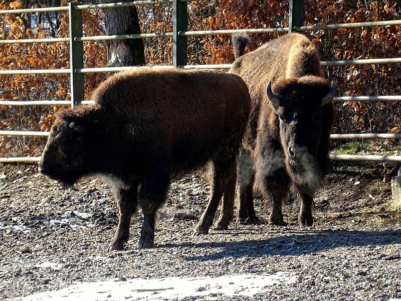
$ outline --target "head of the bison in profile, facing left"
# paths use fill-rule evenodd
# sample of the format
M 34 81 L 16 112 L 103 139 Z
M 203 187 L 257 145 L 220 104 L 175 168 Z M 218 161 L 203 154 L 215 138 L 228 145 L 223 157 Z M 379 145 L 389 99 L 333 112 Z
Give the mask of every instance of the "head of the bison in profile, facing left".
M 64 187 L 71 187 L 85 174 L 87 126 L 79 108 L 56 115 L 39 163 L 39 171 Z

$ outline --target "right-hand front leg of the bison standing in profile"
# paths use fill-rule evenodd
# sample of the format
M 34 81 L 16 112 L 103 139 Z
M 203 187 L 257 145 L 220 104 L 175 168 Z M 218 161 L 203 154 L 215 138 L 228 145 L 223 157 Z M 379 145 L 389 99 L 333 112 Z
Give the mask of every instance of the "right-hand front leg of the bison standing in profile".
M 162 169 L 155 170 L 154 173 L 142 179 L 139 205 L 143 212 L 143 224 L 139 237 L 139 249 L 153 247 L 156 211 L 165 201 L 168 185 L 168 174 Z

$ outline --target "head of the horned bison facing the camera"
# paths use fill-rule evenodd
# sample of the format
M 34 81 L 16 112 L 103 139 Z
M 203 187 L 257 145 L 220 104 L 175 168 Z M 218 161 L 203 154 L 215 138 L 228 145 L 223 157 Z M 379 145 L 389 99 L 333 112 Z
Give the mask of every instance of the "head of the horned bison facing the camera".
M 295 183 L 315 188 L 321 182 L 316 156 L 324 139 L 323 127 L 331 129 L 324 110 L 332 106 L 334 90 L 335 81 L 330 88 L 328 81 L 317 76 L 280 79 L 273 86 L 268 83 L 266 95 L 280 119 L 285 165 Z

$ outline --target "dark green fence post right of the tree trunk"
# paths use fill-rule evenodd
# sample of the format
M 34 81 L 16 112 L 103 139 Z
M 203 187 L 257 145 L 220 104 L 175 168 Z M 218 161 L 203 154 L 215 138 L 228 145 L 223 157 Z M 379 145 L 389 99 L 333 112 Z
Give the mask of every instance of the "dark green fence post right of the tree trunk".
M 187 38 L 179 33 L 188 29 L 187 2 L 173 0 L 173 50 L 172 63 L 174 67 L 186 65 Z

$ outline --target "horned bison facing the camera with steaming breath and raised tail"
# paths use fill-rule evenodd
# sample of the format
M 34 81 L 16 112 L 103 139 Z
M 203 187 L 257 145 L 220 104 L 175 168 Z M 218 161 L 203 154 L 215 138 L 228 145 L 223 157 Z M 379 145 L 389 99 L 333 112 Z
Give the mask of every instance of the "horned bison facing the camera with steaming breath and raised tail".
M 330 87 L 322 77 L 318 50 L 300 34 L 241 56 L 247 42 L 244 35 L 233 36 L 236 61 L 230 70 L 245 80 L 251 95 L 246 149 L 238 160 L 237 216 L 257 219 L 255 186 L 270 207 L 270 223 L 284 224 L 281 204 L 292 191 L 300 201 L 299 225 L 312 225 L 313 197 L 330 170 L 335 82 Z

